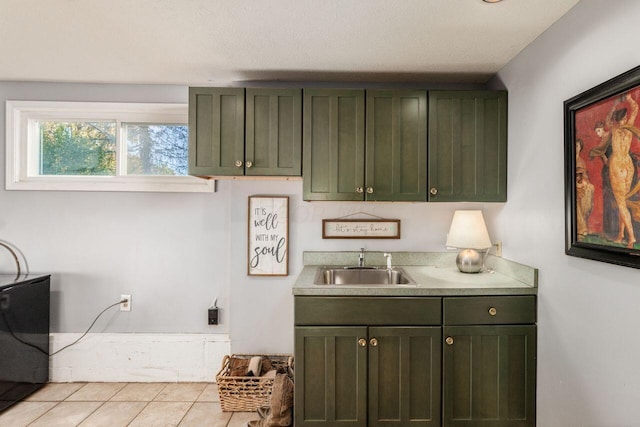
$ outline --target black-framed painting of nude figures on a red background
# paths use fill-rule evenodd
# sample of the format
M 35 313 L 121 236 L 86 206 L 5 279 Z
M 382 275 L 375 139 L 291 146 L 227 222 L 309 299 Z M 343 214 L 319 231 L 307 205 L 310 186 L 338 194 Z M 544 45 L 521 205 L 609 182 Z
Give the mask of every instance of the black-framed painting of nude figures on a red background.
M 633 193 L 634 188 L 640 185 L 640 135 L 631 129 L 635 123 L 640 122 L 640 114 L 634 114 L 634 111 L 637 112 L 637 105 L 640 105 L 640 66 L 564 102 L 567 255 L 640 268 L 640 217 L 634 219 L 630 207 L 631 203 L 636 201 L 640 204 L 640 194 Z M 619 118 L 622 110 L 626 119 Z M 627 123 L 625 128 L 621 127 L 625 126 L 624 120 L 629 121 L 631 118 L 635 119 L 634 123 Z M 635 127 L 640 128 L 640 125 Z M 622 169 L 622 164 L 629 164 L 624 158 L 626 145 L 613 143 L 613 135 L 621 135 L 621 130 L 623 133 L 626 131 L 632 134 L 630 148 L 626 151 L 633 165 L 633 178 L 630 190 L 625 196 L 622 194 L 626 183 L 618 172 Z M 595 138 L 599 139 L 594 142 Z M 623 139 L 616 136 L 615 140 Z M 581 143 L 578 143 L 578 140 Z M 591 144 L 585 142 L 587 140 L 590 140 Z M 593 162 L 599 163 L 600 166 Z M 593 188 L 586 187 L 588 185 L 592 185 Z M 587 209 L 589 194 L 592 196 L 591 210 Z M 624 207 L 618 209 L 621 201 Z M 629 222 L 626 219 L 621 220 L 621 215 L 625 215 L 625 209 L 630 214 L 630 229 L 634 231 L 633 234 L 629 233 Z M 587 212 L 589 215 L 585 216 Z M 620 224 L 622 239 L 619 239 Z M 618 229 L 615 230 L 615 227 Z M 632 236 L 635 242 L 631 241 Z

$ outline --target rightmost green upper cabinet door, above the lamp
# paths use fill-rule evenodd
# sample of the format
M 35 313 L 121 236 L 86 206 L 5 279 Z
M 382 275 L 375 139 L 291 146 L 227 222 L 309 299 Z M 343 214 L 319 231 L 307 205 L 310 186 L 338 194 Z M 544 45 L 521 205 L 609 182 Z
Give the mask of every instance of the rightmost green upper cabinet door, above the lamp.
M 429 201 L 507 200 L 507 93 L 429 92 Z

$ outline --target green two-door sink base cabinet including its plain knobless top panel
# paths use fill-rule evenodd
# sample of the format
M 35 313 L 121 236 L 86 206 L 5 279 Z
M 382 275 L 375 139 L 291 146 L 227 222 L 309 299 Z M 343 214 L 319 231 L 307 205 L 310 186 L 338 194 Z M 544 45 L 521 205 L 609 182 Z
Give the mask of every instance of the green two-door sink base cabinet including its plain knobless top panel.
M 301 296 L 294 306 L 296 426 L 440 426 L 440 298 Z

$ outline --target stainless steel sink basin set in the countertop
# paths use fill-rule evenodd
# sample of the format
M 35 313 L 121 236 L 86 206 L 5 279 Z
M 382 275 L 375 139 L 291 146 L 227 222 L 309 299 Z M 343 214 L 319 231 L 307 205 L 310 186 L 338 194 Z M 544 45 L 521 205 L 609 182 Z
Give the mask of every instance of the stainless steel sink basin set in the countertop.
M 413 285 L 415 282 L 401 268 L 322 267 L 318 270 L 316 285 L 387 286 Z

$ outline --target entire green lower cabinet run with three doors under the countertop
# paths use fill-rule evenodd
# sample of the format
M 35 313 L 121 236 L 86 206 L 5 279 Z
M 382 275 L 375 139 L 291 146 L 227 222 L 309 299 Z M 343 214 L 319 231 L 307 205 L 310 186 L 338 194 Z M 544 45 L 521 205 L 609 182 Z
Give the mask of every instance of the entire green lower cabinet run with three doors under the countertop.
M 295 425 L 535 427 L 536 306 L 296 296 Z

